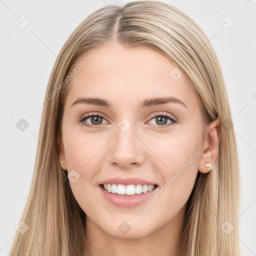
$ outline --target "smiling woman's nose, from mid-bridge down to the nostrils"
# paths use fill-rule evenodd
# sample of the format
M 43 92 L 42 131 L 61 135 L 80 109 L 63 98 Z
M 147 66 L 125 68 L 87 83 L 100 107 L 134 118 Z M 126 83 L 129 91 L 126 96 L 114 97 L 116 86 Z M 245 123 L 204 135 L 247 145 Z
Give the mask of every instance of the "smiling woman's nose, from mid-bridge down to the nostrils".
M 110 164 L 128 169 L 143 162 L 143 143 L 135 133 L 133 126 L 126 131 L 117 127 L 115 136 L 108 144 L 107 159 Z

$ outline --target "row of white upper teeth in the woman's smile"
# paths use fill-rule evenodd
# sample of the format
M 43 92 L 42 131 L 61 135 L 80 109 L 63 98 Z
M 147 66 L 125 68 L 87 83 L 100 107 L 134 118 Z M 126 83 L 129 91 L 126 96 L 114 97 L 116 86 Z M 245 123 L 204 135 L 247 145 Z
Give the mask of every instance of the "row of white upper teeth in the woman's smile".
M 154 185 L 123 185 L 123 184 L 103 184 L 105 190 L 117 194 L 141 194 L 151 191 Z

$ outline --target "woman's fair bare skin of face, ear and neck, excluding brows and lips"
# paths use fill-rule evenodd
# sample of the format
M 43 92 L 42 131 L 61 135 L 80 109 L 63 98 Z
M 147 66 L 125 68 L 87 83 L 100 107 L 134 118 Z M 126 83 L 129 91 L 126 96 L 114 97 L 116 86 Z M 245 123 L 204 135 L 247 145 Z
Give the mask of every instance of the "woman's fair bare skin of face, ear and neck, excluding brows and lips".
M 169 75 L 175 64 L 162 53 L 117 42 L 97 49 L 99 53 L 68 84 L 58 143 L 62 168 L 68 172 L 75 169 L 80 175 L 69 183 L 86 213 L 88 247 L 84 255 L 176 255 L 197 172 L 210 171 L 204 165 L 213 165 L 218 154 L 219 120 L 212 122 L 203 136 L 197 96 L 184 75 L 178 80 Z M 91 51 L 82 53 L 73 67 Z M 81 96 L 104 98 L 112 107 L 71 106 Z M 139 107 L 145 98 L 165 96 L 174 96 L 187 107 L 173 102 Z M 97 128 L 79 122 L 91 112 L 104 117 Z M 160 127 L 151 116 L 161 113 L 178 122 Z M 118 127 L 124 117 L 132 124 L 125 132 Z M 168 118 L 164 121 L 171 122 Z M 96 126 L 92 118 L 83 123 Z M 116 176 L 138 177 L 161 186 L 198 150 L 200 156 L 154 202 L 122 208 L 101 194 L 98 183 Z M 118 228 L 124 220 L 131 227 L 125 234 Z

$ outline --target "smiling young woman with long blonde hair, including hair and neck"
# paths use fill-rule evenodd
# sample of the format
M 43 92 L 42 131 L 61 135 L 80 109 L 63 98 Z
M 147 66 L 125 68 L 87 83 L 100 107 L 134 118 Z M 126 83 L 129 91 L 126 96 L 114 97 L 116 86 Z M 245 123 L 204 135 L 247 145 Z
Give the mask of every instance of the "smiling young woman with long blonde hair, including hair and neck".
M 187 15 L 159 1 L 95 11 L 53 67 L 10 255 L 240 255 L 231 124 Z

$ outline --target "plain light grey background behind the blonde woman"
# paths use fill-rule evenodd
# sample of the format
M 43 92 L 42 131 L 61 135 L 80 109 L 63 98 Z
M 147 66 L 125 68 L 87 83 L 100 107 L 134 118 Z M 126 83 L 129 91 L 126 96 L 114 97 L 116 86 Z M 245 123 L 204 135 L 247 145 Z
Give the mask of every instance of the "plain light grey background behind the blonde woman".
M 28 196 L 44 94 L 56 56 L 71 32 L 90 13 L 106 4 L 126 2 L 0 0 L 0 255 L 8 254 Z M 239 240 L 242 255 L 256 255 L 256 2 L 165 2 L 194 19 L 217 53 L 240 157 Z M 24 29 L 15 23 L 21 23 L 21 15 L 29 21 Z M 234 21 L 229 29 L 226 28 L 232 21 L 226 15 Z M 29 124 L 24 131 L 16 127 L 21 118 Z

